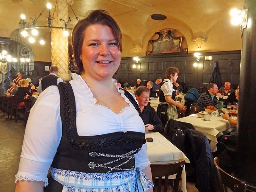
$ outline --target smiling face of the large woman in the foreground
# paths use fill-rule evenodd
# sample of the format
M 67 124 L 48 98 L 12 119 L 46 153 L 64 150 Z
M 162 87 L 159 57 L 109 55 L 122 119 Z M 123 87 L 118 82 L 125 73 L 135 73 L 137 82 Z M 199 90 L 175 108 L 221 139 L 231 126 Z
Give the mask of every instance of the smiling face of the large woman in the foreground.
M 100 24 L 88 26 L 84 31 L 80 59 L 84 67 L 82 76 L 98 81 L 112 78 L 121 61 L 121 52 L 112 29 Z

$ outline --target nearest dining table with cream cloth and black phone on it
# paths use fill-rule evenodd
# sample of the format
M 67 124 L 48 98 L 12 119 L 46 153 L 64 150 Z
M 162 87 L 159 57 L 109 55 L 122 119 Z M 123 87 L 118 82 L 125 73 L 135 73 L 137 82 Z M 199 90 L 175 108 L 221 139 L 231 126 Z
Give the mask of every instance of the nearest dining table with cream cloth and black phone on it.
M 152 142 L 147 141 L 147 154 L 151 164 L 167 164 L 180 160 L 190 163 L 188 157 L 159 132 L 146 131 L 145 138 L 148 137 L 153 139 Z M 169 178 L 174 179 L 175 175 L 169 176 Z M 181 190 L 186 192 L 187 180 L 185 166 L 182 170 L 181 178 Z

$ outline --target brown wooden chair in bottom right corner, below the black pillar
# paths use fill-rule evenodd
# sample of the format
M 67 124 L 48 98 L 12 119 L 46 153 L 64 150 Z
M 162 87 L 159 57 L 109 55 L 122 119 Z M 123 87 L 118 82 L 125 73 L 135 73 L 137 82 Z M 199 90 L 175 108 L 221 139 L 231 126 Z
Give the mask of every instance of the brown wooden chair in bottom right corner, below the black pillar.
M 220 168 L 218 157 L 214 157 L 213 162 L 215 165 L 215 174 L 220 192 L 227 192 L 227 188 L 234 192 L 245 192 L 246 184 L 243 181 L 223 171 Z

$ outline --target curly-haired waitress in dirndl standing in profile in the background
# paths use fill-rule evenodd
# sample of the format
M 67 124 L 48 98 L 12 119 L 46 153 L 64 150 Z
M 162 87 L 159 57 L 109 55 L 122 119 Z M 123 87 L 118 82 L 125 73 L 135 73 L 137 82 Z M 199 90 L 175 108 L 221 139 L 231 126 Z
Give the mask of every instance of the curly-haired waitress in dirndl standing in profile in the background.
M 159 102 L 160 106 L 163 104 L 169 104 L 167 107 L 167 116 L 168 119 L 177 119 L 178 114 L 176 107 L 180 110 L 186 110 L 186 107 L 182 103 L 177 103 L 175 101 L 176 91 L 173 89 L 172 83 L 176 82 L 178 79 L 179 69 L 176 67 L 169 67 L 165 70 L 165 78 L 161 87 L 159 89 Z M 159 106 L 159 109 L 160 109 Z M 157 113 L 159 114 L 159 113 Z

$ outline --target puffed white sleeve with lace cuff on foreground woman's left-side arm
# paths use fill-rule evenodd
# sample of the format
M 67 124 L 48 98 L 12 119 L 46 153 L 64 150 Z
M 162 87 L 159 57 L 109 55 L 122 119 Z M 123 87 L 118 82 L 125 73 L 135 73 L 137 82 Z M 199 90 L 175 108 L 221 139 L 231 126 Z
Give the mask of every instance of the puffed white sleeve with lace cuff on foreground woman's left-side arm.
M 17 180 L 44 181 L 60 143 L 60 94 L 56 86 L 45 89 L 31 108 L 20 155 Z

